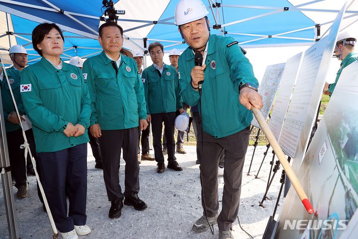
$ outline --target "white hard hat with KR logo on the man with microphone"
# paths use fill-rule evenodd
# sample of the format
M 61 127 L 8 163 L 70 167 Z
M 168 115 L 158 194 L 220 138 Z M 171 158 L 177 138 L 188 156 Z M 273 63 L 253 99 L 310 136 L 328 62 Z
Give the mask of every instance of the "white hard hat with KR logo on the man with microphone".
M 208 13 L 201 0 L 180 0 L 175 9 L 175 24 L 182 25 L 196 21 Z

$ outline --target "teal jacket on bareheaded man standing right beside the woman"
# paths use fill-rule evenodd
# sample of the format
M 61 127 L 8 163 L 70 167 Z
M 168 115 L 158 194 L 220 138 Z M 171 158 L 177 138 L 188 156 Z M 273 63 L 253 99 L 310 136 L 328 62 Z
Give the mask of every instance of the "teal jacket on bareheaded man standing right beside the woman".
M 111 60 L 101 54 L 87 59 L 83 66 L 91 97 L 90 124 L 115 130 L 138 127 L 147 119 L 143 83 L 134 59 L 121 54 L 118 74 Z

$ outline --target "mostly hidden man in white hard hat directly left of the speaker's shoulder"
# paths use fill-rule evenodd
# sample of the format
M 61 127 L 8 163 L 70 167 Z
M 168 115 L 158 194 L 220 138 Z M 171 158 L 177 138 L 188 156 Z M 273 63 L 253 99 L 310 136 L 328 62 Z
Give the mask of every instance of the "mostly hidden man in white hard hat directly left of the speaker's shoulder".
M 169 60 L 171 62 L 171 66 L 173 66 L 174 68 L 176 68 L 177 72 L 179 70 L 179 66 L 178 66 L 178 59 L 180 56 L 180 52 L 178 49 L 174 48 L 169 52 Z M 186 112 L 186 110 L 188 109 L 188 106 L 183 103 L 183 110 Z M 177 137 L 177 153 L 181 153 L 181 154 L 185 154 L 186 151 L 183 148 L 183 144 L 184 144 L 184 135 L 185 132 L 183 131 L 178 131 L 178 137 Z M 165 136 L 165 134 L 163 134 L 163 154 L 167 154 L 167 138 Z

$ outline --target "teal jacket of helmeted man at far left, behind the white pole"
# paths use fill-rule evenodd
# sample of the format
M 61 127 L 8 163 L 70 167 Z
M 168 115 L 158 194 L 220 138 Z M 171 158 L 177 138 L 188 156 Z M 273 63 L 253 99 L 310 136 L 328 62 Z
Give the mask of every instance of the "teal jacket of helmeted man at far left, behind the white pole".
M 3 71 L 3 69 L 2 69 Z M 7 77 L 9 79 L 9 83 L 11 86 L 12 94 L 15 98 L 15 102 L 17 105 L 17 109 L 20 113 L 20 116 L 24 115 L 25 112 L 23 110 L 22 100 L 20 96 L 20 71 L 13 70 L 13 69 L 6 69 Z M 2 72 L 3 78 L 2 82 L 0 82 L 1 86 L 1 101 L 2 101 L 2 111 L 3 111 L 3 117 L 5 120 L 5 129 L 6 132 L 12 132 L 15 131 L 20 127 L 19 124 L 10 123 L 7 121 L 8 114 L 10 112 L 16 111 L 15 106 L 12 102 L 11 93 L 9 90 L 9 87 L 7 85 L 5 73 Z

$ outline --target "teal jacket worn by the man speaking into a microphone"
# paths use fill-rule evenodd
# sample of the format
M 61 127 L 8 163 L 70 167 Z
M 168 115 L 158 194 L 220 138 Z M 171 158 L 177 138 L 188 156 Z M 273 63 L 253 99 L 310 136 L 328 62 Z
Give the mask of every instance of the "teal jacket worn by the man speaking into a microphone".
M 235 44 L 236 43 L 236 44 Z M 203 130 L 215 138 L 237 133 L 250 125 L 252 112 L 239 102 L 239 85 L 259 83 L 249 60 L 231 37 L 210 35 L 202 84 Z M 181 96 L 189 106 L 199 103 L 199 92 L 192 89 L 190 72 L 194 53 L 187 48 L 179 57 Z

